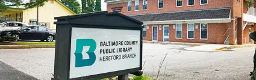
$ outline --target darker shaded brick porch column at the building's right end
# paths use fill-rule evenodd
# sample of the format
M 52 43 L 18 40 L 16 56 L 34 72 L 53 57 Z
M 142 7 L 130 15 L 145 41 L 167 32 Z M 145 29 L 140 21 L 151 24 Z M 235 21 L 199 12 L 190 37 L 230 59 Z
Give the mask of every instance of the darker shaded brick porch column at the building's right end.
M 237 44 L 243 45 L 243 17 L 237 18 Z

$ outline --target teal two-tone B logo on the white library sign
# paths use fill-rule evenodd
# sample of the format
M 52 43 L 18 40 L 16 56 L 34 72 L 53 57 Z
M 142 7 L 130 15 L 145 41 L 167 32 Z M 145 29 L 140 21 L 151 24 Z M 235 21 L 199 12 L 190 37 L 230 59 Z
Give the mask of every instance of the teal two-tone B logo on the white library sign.
M 83 48 L 84 46 L 90 46 L 89 51 L 86 53 L 89 55 L 89 59 L 83 60 Z M 77 39 L 75 49 L 75 67 L 92 66 L 95 63 L 96 55 L 94 53 L 96 49 L 96 42 L 93 39 Z

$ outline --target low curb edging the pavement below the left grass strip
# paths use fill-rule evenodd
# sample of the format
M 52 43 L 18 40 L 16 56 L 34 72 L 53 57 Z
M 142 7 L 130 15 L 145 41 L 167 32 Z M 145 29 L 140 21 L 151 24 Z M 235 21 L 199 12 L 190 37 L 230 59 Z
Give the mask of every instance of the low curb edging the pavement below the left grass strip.
M 1 45 L 0 49 L 55 48 L 55 45 Z

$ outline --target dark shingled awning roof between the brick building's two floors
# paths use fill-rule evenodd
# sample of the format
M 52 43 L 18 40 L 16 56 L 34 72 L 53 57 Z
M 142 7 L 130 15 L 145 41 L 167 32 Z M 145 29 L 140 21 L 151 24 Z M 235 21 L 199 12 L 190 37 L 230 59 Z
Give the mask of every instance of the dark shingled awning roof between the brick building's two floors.
M 228 19 L 230 18 L 230 13 L 231 8 L 214 8 L 208 10 L 175 11 L 128 16 L 141 22 L 153 22 L 166 20 Z

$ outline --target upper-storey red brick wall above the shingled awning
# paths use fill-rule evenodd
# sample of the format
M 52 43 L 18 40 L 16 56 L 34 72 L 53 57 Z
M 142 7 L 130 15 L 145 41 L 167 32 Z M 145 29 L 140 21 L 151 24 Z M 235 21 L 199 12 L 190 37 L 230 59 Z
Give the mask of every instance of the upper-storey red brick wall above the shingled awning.
M 170 11 L 184 11 L 184 10 L 199 10 L 207 8 L 223 8 L 223 7 L 233 7 L 233 2 L 236 0 L 208 0 L 207 5 L 200 5 L 200 0 L 195 0 L 195 5 L 188 6 L 187 0 L 183 0 L 183 7 L 176 7 L 175 0 L 164 0 L 164 8 L 158 9 L 158 0 L 148 0 L 148 10 L 143 9 L 143 2 L 139 0 L 139 11 L 134 11 L 135 2 L 132 1 L 131 11 L 128 11 L 127 2 L 122 2 L 118 4 L 108 4 L 107 11 L 112 12 L 112 7 L 123 7 L 120 13 L 122 14 L 145 14 L 145 13 L 160 13 L 160 12 L 170 12 Z

